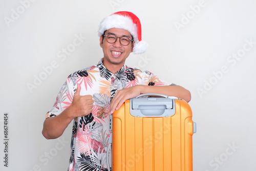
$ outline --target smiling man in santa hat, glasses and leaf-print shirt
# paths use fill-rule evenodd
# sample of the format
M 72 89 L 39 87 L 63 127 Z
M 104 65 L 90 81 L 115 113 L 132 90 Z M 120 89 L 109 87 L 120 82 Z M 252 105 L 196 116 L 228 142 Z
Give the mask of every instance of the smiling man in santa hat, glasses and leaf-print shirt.
M 151 72 L 124 66 L 131 52 L 139 54 L 147 48 L 136 15 L 121 11 L 104 18 L 99 36 L 103 58 L 68 77 L 42 130 L 47 139 L 58 138 L 74 120 L 69 170 L 108 170 L 109 116 L 126 99 L 160 93 L 190 100 L 186 89 L 168 84 Z

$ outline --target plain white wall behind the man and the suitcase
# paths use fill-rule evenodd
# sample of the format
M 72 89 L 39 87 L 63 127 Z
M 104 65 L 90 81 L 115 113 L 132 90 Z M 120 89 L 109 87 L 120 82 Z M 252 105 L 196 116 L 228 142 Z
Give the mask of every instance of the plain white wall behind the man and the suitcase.
M 145 54 L 131 54 L 126 64 L 191 92 L 198 129 L 193 135 L 194 170 L 256 170 L 255 1 L 0 3 L 0 170 L 67 170 L 71 125 L 59 139 L 46 140 L 42 123 L 68 75 L 103 57 L 98 25 L 120 10 L 140 18 L 142 39 L 149 44 Z M 82 37 L 79 46 L 73 45 L 76 36 Z

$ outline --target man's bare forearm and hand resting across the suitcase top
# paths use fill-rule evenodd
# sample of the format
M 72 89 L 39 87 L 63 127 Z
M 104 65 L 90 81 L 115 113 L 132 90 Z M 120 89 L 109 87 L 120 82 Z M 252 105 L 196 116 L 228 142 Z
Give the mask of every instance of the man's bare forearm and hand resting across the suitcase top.
M 175 96 L 187 102 L 190 101 L 190 92 L 181 86 L 145 86 L 136 85 L 123 90 L 117 90 L 115 96 L 111 101 L 110 113 L 118 110 L 125 100 L 137 97 L 144 93 L 158 93 L 166 96 Z

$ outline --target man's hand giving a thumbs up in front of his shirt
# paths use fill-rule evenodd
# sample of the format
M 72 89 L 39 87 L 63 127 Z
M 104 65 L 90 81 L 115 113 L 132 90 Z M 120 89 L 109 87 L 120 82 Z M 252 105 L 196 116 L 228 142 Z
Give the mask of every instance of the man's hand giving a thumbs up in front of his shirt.
M 91 95 L 80 95 L 81 86 L 77 83 L 77 89 L 73 97 L 73 101 L 69 106 L 70 114 L 73 118 L 83 117 L 90 114 L 93 111 L 93 96 Z

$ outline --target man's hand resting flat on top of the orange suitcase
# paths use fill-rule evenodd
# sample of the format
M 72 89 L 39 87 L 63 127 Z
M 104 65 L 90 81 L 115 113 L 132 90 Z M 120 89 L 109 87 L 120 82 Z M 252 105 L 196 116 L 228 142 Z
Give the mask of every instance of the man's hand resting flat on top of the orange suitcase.
M 141 94 L 142 85 L 136 85 L 130 88 L 117 90 L 110 105 L 110 114 L 113 114 L 115 110 L 118 110 L 125 100 L 137 97 Z

